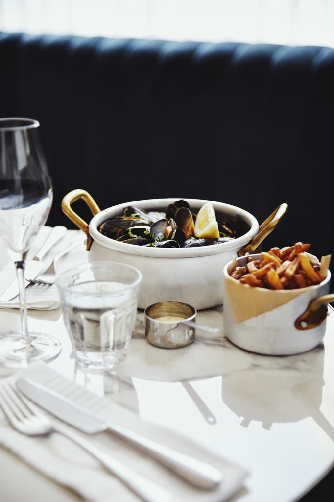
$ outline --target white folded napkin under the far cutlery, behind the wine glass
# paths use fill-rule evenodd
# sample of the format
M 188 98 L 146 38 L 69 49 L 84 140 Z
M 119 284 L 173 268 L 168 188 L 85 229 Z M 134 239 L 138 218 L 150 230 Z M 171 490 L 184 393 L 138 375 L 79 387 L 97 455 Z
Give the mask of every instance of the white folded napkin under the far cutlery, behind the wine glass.
M 51 227 L 44 225 L 39 233 L 36 236 L 36 239 L 32 245 L 32 248 L 28 255 L 34 257 L 35 253 L 38 249 L 43 245 L 44 240 L 46 238 L 48 230 L 51 230 Z M 65 252 L 65 250 L 71 246 L 73 242 L 77 242 L 79 244 L 80 240 L 84 240 L 83 232 L 79 230 L 67 230 L 65 236 L 57 242 L 52 250 L 53 257 L 58 255 L 61 252 Z M 2 267 L 3 263 L 6 263 L 5 267 Z M 11 263 L 8 256 L 0 256 L 0 296 L 6 291 L 7 287 L 16 279 L 16 270 L 14 263 Z M 54 272 L 53 266 L 50 267 L 49 272 Z M 58 294 L 58 289 L 55 284 L 52 286 L 29 286 L 26 288 L 26 296 L 27 296 L 27 308 L 35 309 L 35 310 L 53 310 L 57 309 L 60 305 L 60 299 Z M 19 296 L 9 300 L 7 302 L 0 302 L 0 308 L 3 309 L 17 309 L 20 307 Z

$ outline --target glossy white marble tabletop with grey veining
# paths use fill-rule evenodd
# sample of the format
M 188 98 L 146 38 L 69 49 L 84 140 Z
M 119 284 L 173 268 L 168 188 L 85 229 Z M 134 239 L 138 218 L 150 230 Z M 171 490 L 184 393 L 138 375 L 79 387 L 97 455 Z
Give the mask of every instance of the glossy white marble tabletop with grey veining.
M 292 356 L 234 346 L 224 337 L 223 307 L 197 316 L 198 322 L 221 328 L 217 334 L 198 331 L 187 347 L 157 348 L 144 338 L 140 311 L 128 357 L 104 375 L 84 373 L 70 358 L 60 309 L 29 311 L 29 327 L 61 340 L 61 354 L 49 363 L 54 369 L 246 468 L 249 476 L 233 500 L 291 502 L 334 465 L 334 311 L 329 311 L 323 343 Z M 18 310 L 0 310 L 0 326 L 18 327 Z M 1 447 L 0 462 L 3 502 L 80 500 Z

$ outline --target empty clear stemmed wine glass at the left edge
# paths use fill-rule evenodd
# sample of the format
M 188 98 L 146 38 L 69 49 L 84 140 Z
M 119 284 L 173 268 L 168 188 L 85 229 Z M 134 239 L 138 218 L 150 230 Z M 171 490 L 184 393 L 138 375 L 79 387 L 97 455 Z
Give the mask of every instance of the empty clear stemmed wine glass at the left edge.
M 53 199 L 39 126 L 31 118 L 0 118 L 0 236 L 15 262 L 21 316 L 21 333 L 0 342 L 0 365 L 12 368 L 54 358 L 61 350 L 56 338 L 28 331 L 25 260 Z

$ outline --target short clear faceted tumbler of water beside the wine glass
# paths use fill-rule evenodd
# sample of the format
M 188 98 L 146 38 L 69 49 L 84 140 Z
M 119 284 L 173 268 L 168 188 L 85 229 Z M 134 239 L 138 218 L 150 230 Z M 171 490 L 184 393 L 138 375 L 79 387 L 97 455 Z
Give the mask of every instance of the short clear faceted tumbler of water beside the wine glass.
M 115 262 L 78 265 L 56 277 L 72 356 L 87 369 L 108 370 L 127 355 L 141 273 Z

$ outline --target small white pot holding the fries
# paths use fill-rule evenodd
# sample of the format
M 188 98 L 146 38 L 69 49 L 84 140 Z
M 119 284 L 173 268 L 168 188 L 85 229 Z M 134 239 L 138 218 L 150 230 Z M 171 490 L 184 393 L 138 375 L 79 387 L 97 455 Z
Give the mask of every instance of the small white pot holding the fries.
M 251 255 L 259 260 L 261 255 Z M 246 264 L 246 258 L 237 259 L 238 265 Z M 230 264 L 225 265 L 224 276 L 228 276 Z M 329 292 L 330 272 L 320 284 L 305 288 L 305 291 L 289 302 L 257 316 L 236 322 L 226 292 L 224 293 L 224 334 L 232 343 L 251 352 L 266 355 L 289 355 L 306 352 L 322 340 L 326 321 L 312 329 L 296 329 L 296 319 L 305 312 L 315 298 Z M 249 288 L 250 286 L 244 285 Z M 279 293 L 279 292 L 277 292 Z M 329 300 L 327 300 L 329 301 Z M 242 308 L 242 306 L 241 306 Z

